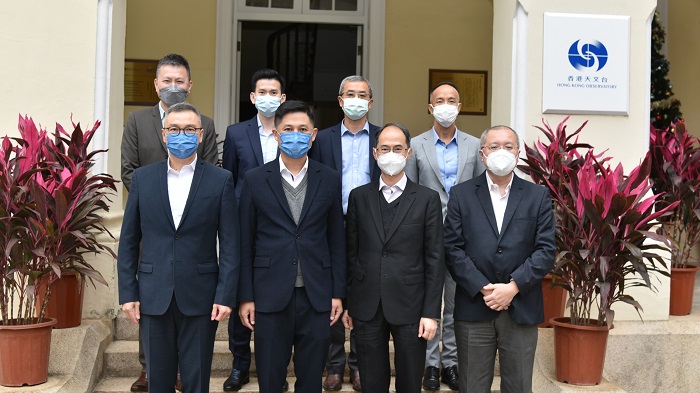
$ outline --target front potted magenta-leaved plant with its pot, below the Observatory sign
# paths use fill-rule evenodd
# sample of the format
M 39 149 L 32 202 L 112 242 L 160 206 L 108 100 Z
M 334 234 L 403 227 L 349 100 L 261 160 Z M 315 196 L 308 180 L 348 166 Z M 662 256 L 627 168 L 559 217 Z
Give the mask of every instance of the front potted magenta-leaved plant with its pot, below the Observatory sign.
M 563 126 L 562 122 L 559 129 Z M 558 151 L 546 150 L 550 163 Z M 653 290 L 652 273 L 667 274 L 664 260 L 656 253 L 663 246 L 646 240 L 667 244 L 664 236 L 652 230 L 676 203 L 654 211 L 658 195 L 647 196 L 649 154 L 627 176 L 621 165 L 611 169 L 606 163 L 609 158 L 595 155 L 592 149 L 569 154 L 581 160 L 577 166 L 562 165 L 560 183 L 544 182 L 556 207 L 558 253 L 553 273 L 559 278 L 555 285 L 569 295 L 570 317 L 551 320 L 556 378 L 594 385 L 602 378 L 607 335 L 614 320 L 611 306 L 622 301 L 640 312 L 642 306 L 625 291 L 636 286 Z

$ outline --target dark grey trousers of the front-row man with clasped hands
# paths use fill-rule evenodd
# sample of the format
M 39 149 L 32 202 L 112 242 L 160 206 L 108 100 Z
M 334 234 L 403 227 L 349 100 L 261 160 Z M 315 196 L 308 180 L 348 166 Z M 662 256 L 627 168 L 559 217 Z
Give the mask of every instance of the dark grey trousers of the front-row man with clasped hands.
M 455 321 L 455 336 L 461 392 L 491 391 L 497 350 L 501 392 L 532 392 L 537 325 L 515 323 L 501 311 L 493 321 Z

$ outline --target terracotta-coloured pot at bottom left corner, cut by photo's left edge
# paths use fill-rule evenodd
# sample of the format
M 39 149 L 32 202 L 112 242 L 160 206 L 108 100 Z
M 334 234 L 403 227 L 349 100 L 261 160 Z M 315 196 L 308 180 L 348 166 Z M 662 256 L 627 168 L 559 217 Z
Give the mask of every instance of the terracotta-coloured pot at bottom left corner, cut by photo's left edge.
M 48 380 L 54 318 L 32 325 L 0 324 L 0 385 L 38 385 Z

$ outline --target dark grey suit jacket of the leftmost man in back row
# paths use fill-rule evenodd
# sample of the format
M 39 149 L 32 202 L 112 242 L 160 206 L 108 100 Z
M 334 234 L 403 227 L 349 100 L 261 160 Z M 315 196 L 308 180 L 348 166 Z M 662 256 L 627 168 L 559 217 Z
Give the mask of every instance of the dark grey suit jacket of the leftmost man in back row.
M 151 165 L 168 158 L 168 148 L 163 143 L 163 123 L 158 105 L 129 113 L 122 135 L 122 181 L 131 191 L 131 174 L 136 168 Z M 202 115 L 204 137 L 197 147 L 197 157 L 216 164 L 219 151 L 216 146 L 214 121 Z

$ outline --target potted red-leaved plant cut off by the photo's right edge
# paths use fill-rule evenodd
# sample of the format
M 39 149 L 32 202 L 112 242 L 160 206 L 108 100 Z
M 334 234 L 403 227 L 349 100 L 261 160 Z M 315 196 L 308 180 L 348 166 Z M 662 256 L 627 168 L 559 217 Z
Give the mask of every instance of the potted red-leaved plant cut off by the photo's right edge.
M 700 240 L 700 141 L 680 120 L 665 129 L 651 127 L 653 190 L 660 204 L 678 204 L 664 217 L 659 232 L 671 240 L 671 315 L 688 315 L 696 272 L 693 247 Z

